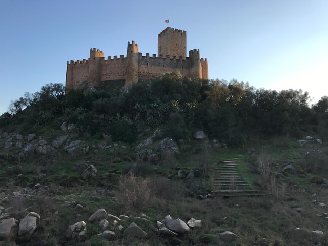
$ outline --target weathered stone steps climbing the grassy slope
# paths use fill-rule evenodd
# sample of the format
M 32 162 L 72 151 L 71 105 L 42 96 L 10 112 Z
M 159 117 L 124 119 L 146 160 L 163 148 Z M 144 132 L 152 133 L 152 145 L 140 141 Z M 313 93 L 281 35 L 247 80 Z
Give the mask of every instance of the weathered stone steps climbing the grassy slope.
M 247 181 L 241 179 L 237 171 L 237 161 L 240 158 L 241 156 L 224 160 L 221 168 L 213 170 L 212 193 L 226 197 L 265 195 L 262 191 L 253 189 Z

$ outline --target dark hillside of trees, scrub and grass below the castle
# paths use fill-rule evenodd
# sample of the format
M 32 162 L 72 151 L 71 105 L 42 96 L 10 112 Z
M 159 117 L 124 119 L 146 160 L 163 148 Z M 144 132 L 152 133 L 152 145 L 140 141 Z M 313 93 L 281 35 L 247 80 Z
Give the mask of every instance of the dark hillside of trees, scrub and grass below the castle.
M 328 245 L 328 98 L 309 98 L 179 73 L 26 93 L 0 116 L 0 245 Z M 212 194 L 213 170 L 238 156 L 261 195 Z M 163 232 L 167 215 L 201 227 Z

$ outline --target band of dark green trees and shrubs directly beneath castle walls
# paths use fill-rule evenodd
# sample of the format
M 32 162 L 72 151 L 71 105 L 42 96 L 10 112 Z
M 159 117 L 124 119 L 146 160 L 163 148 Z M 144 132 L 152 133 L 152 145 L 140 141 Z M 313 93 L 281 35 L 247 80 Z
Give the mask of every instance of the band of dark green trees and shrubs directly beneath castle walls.
M 12 102 L 0 116 L 0 127 L 24 129 L 57 126 L 67 121 L 91 135 L 111 134 L 133 142 L 147 128 L 168 128 L 175 139 L 196 130 L 239 145 L 251 134 L 301 137 L 314 133 L 328 140 L 328 98 L 309 105 L 301 90 L 255 89 L 237 80 L 200 80 L 168 73 L 121 90 L 70 91 L 49 84 Z

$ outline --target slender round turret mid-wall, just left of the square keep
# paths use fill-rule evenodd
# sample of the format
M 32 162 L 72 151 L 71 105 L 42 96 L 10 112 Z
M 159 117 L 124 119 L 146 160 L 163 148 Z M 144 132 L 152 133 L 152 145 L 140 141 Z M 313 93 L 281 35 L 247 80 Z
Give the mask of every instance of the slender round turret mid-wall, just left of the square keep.
M 128 42 L 127 67 L 125 75 L 126 85 L 138 82 L 138 50 L 138 44 L 136 44 L 134 41 L 132 41 L 132 44 Z

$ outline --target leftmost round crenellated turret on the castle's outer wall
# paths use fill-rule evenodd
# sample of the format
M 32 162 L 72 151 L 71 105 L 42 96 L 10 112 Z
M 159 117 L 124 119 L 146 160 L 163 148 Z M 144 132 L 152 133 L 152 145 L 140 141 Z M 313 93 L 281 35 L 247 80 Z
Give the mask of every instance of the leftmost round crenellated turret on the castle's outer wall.
M 89 78 L 88 82 L 94 86 L 98 86 L 101 80 L 101 58 L 104 57 L 104 53 L 96 48 L 90 49 L 89 58 Z

